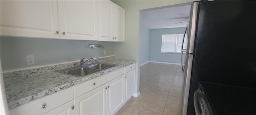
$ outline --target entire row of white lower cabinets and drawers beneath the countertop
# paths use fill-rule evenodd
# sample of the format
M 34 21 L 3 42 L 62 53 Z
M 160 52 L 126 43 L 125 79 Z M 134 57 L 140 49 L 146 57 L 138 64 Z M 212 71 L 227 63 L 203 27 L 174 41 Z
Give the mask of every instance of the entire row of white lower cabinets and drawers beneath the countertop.
M 124 72 L 125 71 L 125 72 Z M 10 109 L 10 115 L 114 115 L 132 97 L 135 64 Z

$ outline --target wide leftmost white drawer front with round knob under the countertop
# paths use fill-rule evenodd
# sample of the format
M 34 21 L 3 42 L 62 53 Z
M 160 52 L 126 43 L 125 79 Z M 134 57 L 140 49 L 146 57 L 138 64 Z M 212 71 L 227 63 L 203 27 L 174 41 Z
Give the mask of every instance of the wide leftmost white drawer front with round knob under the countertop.
M 10 109 L 9 113 L 10 115 L 42 115 L 73 99 L 73 87 L 70 87 L 25 105 Z M 46 105 L 46 107 L 43 109 L 42 105 Z

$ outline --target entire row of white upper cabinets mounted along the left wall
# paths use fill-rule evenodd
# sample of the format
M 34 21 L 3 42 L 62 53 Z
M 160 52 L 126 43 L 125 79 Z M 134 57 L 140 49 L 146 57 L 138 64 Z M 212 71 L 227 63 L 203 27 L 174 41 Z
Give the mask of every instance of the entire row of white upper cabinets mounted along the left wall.
M 124 42 L 124 9 L 110 0 L 1 0 L 1 36 Z

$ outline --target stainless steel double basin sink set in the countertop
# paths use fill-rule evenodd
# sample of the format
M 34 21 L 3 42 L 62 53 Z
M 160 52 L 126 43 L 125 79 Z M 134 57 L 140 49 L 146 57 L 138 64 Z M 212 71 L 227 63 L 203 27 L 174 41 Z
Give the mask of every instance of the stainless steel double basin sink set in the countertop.
M 108 64 L 108 63 L 92 63 L 90 65 L 82 65 L 80 67 L 71 67 L 67 69 L 61 69 L 61 70 L 57 70 L 56 72 L 73 75 L 76 77 L 83 77 L 85 75 L 89 75 L 89 74 L 102 71 L 104 69 L 108 69 L 115 66 L 117 65 Z

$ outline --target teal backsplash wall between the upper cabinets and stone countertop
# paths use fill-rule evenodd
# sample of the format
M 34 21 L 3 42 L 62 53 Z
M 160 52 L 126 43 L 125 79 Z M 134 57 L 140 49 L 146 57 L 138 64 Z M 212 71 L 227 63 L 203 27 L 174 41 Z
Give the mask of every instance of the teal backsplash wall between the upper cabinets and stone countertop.
M 6 37 L 0 40 L 3 70 L 114 55 L 114 42 Z M 88 44 L 102 44 L 106 55 L 103 55 L 103 48 L 92 49 Z M 26 55 L 34 55 L 34 65 L 27 65 Z

